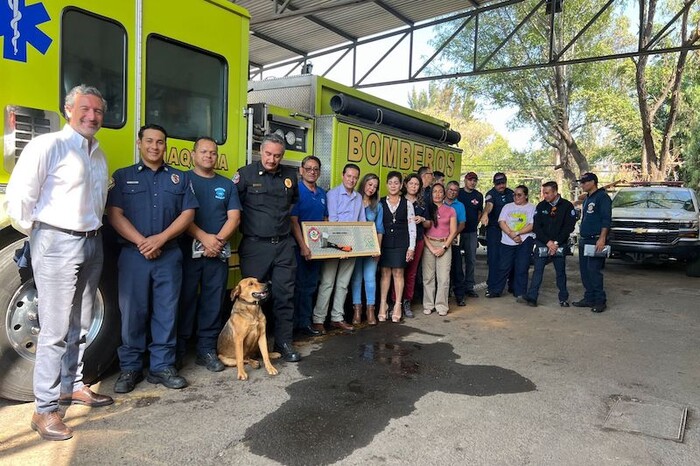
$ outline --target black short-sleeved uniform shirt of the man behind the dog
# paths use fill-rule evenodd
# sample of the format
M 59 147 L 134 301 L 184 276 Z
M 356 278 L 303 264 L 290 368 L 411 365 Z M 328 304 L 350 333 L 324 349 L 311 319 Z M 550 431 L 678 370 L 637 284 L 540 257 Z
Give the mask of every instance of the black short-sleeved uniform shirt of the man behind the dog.
M 238 169 L 233 179 L 241 201 L 244 236 L 272 237 L 290 232 L 290 207 L 299 200 L 297 170 L 280 165 L 268 173 L 260 161 Z

